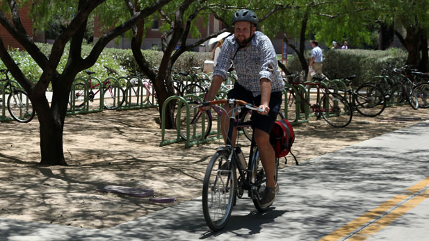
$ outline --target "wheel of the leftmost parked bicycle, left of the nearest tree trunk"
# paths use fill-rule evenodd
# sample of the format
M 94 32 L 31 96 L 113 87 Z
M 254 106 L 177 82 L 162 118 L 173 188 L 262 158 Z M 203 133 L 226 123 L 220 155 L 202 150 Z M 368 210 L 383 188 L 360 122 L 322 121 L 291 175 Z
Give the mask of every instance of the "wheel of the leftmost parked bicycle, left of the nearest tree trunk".
M 10 116 L 20 123 L 28 123 L 34 118 L 33 103 L 23 90 L 13 90 L 8 97 L 8 110 Z

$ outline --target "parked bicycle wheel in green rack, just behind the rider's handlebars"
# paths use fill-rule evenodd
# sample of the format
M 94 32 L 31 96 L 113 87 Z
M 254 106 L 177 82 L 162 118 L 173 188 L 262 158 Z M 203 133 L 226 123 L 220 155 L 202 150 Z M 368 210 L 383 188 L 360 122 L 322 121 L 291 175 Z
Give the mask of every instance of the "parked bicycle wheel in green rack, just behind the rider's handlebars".
M 207 138 L 211 131 L 211 119 L 209 117 L 209 110 L 200 112 L 197 108 L 191 108 L 197 106 L 197 103 L 191 102 L 189 105 L 189 140 L 200 140 Z M 182 139 L 188 140 L 186 133 L 186 105 L 183 102 L 178 103 L 176 113 L 176 128 L 179 131 L 179 135 Z

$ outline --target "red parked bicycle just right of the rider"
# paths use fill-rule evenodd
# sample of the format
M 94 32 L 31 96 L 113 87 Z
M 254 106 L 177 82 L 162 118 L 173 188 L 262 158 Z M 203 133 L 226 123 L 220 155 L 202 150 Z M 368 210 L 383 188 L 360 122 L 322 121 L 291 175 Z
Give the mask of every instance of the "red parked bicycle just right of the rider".
M 316 115 L 317 119 L 325 119 L 325 121 L 334 127 L 345 127 L 348 124 L 350 124 L 352 117 L 353 117 L 353 111 L 350 107 L 350 104 L 346 100 L 346 98 L 342 97 L 340 94 L 330 92 L 330 90 L 327 87 L 323 87 L 321 84 L 321 81 L 323 81 L 325 77 L 323 76 L 314 76 L 313 79 L 316 80 L 316 82 L 305 82 L 305 83 L 298 83 L 291 81 L 291 85 L 297 86 L 297 85 L 308 85 L 308 99 L 305 98 L 300 90 L 296 92 L 298 96 L 300 97 L 300 100 L 303 102 L 296 102 L 295 93 L 292 89 L 285 88 L 286 90 L 286 104 L 288 107 L 293 109 L 297 104 L 303 103 L 309 106 L 311 110 L 313 111 L 314 115 Z M 309 103 L 309 96 L 311 94 L 311 87 L 316 87 L 316 103 L 311 104 Z M 292 111 L 289 111 L 288 108 L 288 120 L 290 122 L 295 122 L 298 120 L 298 116 L 293 116 Z

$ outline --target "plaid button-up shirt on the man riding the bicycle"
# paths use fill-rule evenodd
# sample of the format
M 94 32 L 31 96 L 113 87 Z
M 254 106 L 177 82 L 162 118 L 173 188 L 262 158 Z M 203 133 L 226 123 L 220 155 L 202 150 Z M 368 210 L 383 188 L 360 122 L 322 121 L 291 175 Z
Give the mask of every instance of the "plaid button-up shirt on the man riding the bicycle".
M 250 46 L 247 49 L 240 49 L 238 52 L 237 49 L 238 43 L 234 35 L 229 36 L 222 45 L 213 75 L 226 79 L 229 76 L 227 70 L 233 63 L 238 83 L 251 91 L 254 97 L 261 94 L 261 78 L 268 78 L 271 81 L 271 92 L 284 89 L 273 44 L 264 33 L 254 32 Z

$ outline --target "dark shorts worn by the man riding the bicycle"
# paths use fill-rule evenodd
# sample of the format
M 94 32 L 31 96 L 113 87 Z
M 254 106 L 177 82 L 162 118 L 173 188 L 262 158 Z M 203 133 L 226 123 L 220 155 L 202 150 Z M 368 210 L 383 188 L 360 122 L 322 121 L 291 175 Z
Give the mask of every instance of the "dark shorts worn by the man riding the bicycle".
M 234 84 L 234 88 L 229 90 L 227 94 L 228 99 L 241 99 L 242 101 L 246 101 L 248 103 L 252 103 L 254 106 L 261 105 L 261 95 L 257 97 L 253 97 L 252 92 L 246 90 L 243 86 L 238 85 L 238 83 Z M 282 105 L 282 92 L 271 92 L 270 96 L 270 111 L 268 115 L 260 115 L 256 111 L 252 112 L 252 127 L 258 128 L 261 131 L 265 131 L 266 133 L 271 132 L 271 128 L 273 128 L 275 119 L 277 119 L 277 115 L 279 115 L 280 106 Z

